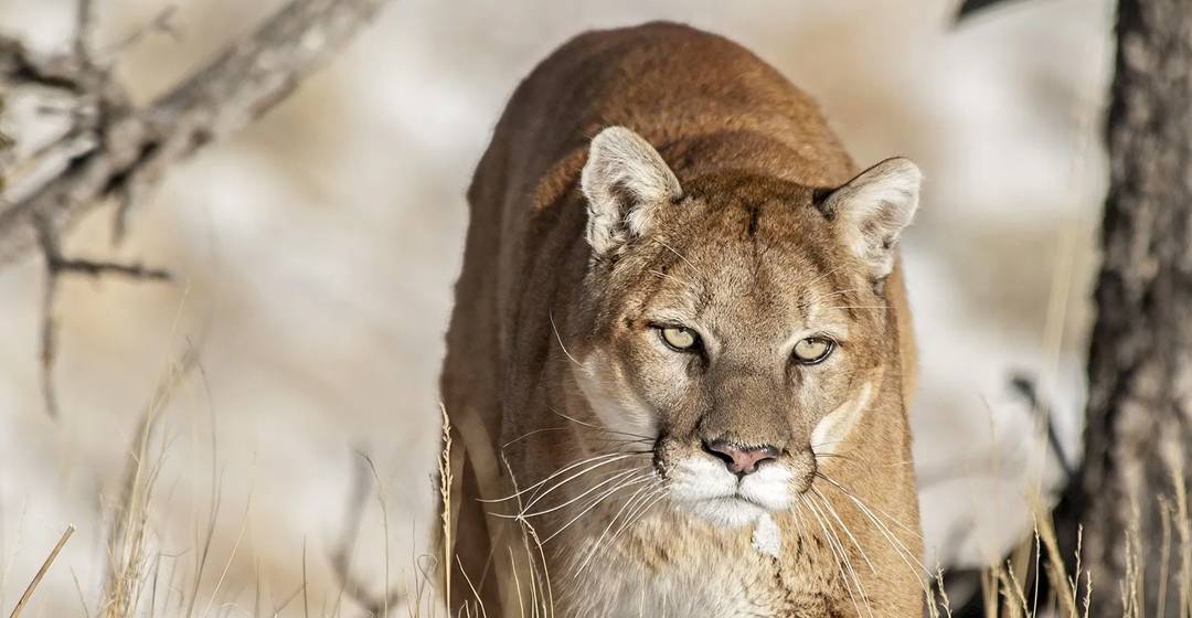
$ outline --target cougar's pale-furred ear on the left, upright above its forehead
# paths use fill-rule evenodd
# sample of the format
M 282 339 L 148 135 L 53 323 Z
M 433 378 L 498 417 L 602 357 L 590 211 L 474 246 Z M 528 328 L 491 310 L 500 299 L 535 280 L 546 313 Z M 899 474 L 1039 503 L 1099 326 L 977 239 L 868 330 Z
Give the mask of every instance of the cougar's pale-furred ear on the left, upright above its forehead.
M 646 233 L 659 208 L 683 193 L 662 155 L 623 126 L 592 138 L 579 186 L 588 200 L 588 243 L 596 255 Z

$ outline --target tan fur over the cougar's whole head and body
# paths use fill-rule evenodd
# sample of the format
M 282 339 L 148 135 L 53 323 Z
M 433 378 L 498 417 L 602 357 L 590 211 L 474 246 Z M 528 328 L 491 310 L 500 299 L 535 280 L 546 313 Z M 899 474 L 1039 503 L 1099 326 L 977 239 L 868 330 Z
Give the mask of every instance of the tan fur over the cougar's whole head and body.
M 918 169 L 857 171 L 809 98 L 685 26 L 582 35 L 521 83 L 468 192 L 443 366 L 453 612 L 920 616 L 896 261 Z M 673 320 L 706 350 L 660 343 Z M 819 332 L 836 351 L 791 362 Z M 716 439 L 781 451 L 739 481 L 756 501 L 684 498 L 727 474 Z

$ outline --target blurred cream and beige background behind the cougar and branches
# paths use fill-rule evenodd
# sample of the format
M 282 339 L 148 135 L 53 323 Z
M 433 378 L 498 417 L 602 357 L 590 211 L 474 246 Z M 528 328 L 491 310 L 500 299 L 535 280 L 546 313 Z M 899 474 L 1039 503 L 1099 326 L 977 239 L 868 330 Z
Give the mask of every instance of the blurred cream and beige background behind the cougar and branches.
M 139 100 L 280 6 L 97 4 L 99 48 Z M 119 44 L 170 6 L 169 33 Z M 73 11 L 73 0 L 0 0 L 0 30 L 58 49 Z M 1067 457 L 1079 452 L 1112 6 L 1042 0 L 958 26 L 955 11 L 952 0 L 393 2 L 278 108 L 175 167 L 123 244 L 107 210 L 66 238 L 70 255 L 175 280 L 63 280 L 56 420 L 39 393 L 44 268 L 31 257 L 0 269 L 0 607 L 74 524 L 26 614 L 98 611 L 130 452 L 187 349 L 199 361 L 162 406 L 153 449 L 159 594 L 205 564 L 204 613 L 353 616 L 330 556 L 361 477 L 379 482 L 353 573 L 373 591 L 386 576 L 414 581 L 435 524 L 436 380 L 473 167 L 539 60 L 583 30 L 650 19 L 752 49 L 819 100 L 858 163 L 901 154 L 923 168 L 905 257 L 929 560 L 998 560 L 1030 529 L 1028 493 L 1062 481 L 1014 376 L 1037 383 Z M 8 101 L 20 148 L 52 131 L 35 105 Z M 361 454 L 375 475 L 361 473 Z

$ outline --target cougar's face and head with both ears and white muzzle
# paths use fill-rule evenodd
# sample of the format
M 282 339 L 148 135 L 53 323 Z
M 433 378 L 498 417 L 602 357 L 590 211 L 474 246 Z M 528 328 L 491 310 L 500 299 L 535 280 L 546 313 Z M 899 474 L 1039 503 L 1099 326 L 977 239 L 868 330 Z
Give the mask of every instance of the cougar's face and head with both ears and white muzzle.
M 597 136 L 575 376 L 607 429 L 652 443 L 672 504 L 745 525 L 791 508 L 842 450 L 880 387 L 880 286 L 918 181 L 889 160 L 834 191 L 746 174 L 679 186 L 640 137 Z

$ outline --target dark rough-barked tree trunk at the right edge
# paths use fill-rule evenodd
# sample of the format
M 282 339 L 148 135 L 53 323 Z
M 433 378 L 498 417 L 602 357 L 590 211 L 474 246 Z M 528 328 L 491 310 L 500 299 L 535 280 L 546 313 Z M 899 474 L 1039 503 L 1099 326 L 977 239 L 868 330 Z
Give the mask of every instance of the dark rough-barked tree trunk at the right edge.
M 1085 462 L 1056 517 L 1069 549 L 1084 524 L 1093 616 L 1186 618 L 1173 513 L 1192 449 L 1192 1 L 1120 0 L 1117 42 Z

